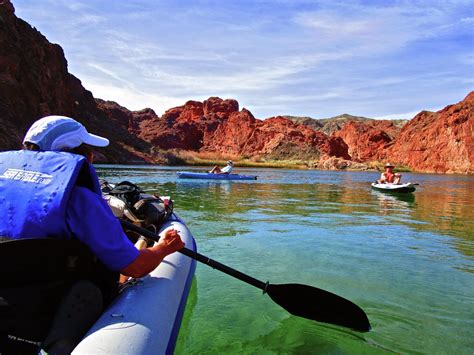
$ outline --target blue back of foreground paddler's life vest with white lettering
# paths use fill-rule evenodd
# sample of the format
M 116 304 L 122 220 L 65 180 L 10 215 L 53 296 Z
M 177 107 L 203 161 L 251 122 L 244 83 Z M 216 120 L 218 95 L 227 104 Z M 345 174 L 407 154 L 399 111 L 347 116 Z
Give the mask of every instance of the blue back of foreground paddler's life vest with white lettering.
M 74 186 L 100 195 L 94 168 L 66 152 L 0 153 L 0 236 L 71 238 L 66 209 Z

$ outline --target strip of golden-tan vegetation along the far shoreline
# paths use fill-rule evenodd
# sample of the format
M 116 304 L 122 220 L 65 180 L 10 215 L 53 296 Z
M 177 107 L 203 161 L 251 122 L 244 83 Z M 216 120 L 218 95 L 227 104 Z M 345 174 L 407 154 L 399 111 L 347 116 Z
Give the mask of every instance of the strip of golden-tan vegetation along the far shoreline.
M 353 162 L 340 158 L 331 157 L 326 161 L 316 159 L 269 159 L 261 156 L 242 157 L 232 154 L 218 152 L 195 152 L 187 150 L 160 150 L 161 159 L 159 165 L 166 166 L 225 166 L 228 160 L 232 160 L 236 168 L 274 168 L 274 169 L 297 169 L 297 170 L 340 170 L 340 171 L 374 171 L 384 170 L 385 162 L 370 161 L 364 163 Z M 329 163 L 327 163 L 329 162 Z M 398 172 L 411 172 L 406 166 L 397 166 Z

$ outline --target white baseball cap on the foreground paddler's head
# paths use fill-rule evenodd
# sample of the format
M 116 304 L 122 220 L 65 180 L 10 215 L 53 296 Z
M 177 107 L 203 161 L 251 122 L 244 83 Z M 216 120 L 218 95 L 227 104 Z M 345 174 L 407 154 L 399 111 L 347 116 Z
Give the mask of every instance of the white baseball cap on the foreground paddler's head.
M 65 116 L 47 116 L 30 127 L 23 143 L 30 142 L 40 150 L 67 150 L 86 143 L 96 147 L 109 145 L 107 138 L 87 132 L 76 120 Z

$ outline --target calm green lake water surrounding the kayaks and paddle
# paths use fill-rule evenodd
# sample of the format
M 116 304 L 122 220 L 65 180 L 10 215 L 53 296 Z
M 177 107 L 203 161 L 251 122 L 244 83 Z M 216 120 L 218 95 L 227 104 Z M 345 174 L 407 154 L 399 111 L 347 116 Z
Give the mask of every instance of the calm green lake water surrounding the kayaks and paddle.
M 313 285 L 357 303 L 372 331 L 289 315 L 261 291 L 198 264 L 176 354 L 474 351 L 474 177 L 241 169 L 250 182 L 176 179 L 176 168 L 98 167 L 171 195 L 199 252 L 263 281 Z M 190 168 L 186 168 L 190 170 Z

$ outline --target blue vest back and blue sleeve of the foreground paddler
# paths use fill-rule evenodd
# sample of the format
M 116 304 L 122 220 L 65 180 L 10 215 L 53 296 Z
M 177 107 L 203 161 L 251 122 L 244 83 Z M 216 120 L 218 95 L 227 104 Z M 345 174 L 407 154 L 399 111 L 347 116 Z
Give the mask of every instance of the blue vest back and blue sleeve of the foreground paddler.
M 114 271 L 138 256 L 92 165 L 66 152 L 0 153 L 0 237 L 77 238 Z

